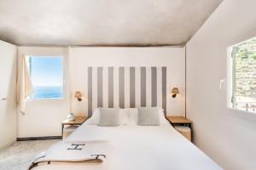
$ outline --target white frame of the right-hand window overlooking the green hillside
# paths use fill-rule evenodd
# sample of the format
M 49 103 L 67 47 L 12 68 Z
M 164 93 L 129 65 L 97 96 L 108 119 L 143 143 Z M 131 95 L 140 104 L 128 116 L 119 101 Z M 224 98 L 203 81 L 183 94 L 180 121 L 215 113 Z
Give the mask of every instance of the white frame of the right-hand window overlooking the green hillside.
M 230 45 L 228 48 L 227 48 L 227 77 L 228 77 L 228 82 L 227 82 L 227 85 L 226 85 L 226 89 L 227 89 L 227 109 L 231 110 L 231 111 L 237 111 L 241 114 L 247 114 L 247 115 L 253 115 L 253 116 L 256 116 L 256 112 L 252 112 L 252 111 L 244 111 L 244 110 L 240 110 L 240 109 L 237 109 L 236 107 L 234 107 L 234 102 L 232 103 L 232 98 L 233 98 L 233 59 L 232 59 L 232 48 L 242 42 L 247 42 L 253 38 L 256 38 L 255 36 L 254 37 L 249 37 L 245 40 L 241 40 L 240 42 L 236 42 L 232 45 Z

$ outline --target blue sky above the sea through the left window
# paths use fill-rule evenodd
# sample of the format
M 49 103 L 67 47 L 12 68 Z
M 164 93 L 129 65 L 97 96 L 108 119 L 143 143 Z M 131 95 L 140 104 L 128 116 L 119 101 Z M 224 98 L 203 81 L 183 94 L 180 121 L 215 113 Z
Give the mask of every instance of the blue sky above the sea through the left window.
M 31 77 L 34 87 L 63 85 L 62 57 L 31 56 L 31 58 Z

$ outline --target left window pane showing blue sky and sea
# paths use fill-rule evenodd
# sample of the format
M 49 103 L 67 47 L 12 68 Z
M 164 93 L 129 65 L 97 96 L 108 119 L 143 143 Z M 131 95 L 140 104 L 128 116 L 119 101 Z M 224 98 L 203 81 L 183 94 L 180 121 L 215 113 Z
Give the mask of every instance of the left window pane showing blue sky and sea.
M 62 99 L 63 57 L 30 56 L 27 62 L 34 88 L 30 99 Z

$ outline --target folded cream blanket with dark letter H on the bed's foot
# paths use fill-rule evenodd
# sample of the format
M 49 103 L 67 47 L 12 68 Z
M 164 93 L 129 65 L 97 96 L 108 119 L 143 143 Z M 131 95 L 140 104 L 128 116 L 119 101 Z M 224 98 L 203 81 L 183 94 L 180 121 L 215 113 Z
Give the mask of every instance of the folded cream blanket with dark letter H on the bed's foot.
M 57 142 L 32 161 L 28 170 L 53 162 L 96 162 L 105 161 L 108 155 L 108 141 Z

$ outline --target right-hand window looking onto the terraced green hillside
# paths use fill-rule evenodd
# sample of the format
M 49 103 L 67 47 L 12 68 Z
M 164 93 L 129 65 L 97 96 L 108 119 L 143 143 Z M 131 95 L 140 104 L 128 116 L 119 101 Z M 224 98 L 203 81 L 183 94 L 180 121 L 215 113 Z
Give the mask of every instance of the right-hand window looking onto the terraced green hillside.
M 256 113 L 256 37 L 230 47 L 230 108 Z

